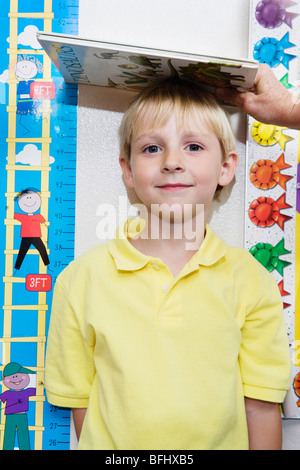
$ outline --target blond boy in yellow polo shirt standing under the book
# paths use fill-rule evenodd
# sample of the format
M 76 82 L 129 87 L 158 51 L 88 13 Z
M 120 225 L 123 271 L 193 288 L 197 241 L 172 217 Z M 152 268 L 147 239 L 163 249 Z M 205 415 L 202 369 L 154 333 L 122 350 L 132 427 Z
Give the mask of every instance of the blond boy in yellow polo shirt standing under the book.
M 238 164 L 224 110 L 196 85 L 162 81 L 134 99 L 120 139 L 143 221 L 59 276 L 48 400 L 73 408 L 80 449 L 279 449 L 281 297 L 206 225 Z

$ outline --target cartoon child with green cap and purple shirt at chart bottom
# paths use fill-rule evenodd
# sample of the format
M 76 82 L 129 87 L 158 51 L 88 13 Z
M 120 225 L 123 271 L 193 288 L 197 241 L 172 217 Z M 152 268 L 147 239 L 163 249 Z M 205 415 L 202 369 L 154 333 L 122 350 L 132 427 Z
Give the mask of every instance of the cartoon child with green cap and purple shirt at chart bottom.
M 9 389 L 1 393 L 0 400 L 5 403 L 5 430 L 3 450 L 13 450 L 16 432 L 20 450 L 30 450 L 28 419 L 26 411 L 29 397 L 36 395 L 36 389 L 28 387 L 28 374 L 34 372 L 17 362 L 10 362 L 3 370 L 3 383 Z

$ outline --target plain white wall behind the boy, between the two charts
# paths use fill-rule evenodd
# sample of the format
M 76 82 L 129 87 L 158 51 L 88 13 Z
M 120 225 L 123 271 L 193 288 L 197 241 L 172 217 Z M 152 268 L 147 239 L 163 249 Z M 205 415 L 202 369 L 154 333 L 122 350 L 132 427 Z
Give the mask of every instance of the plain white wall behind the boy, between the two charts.
M 228 57 L 248 55 L 249 0 L 81 0 L 79 35 Z M 127 193 L 118 167 L 118 126 L 127 95 L 79 87 L 76 256 L 101 242 L 97 208 Z M 229 244 L 243 246 L 246 120 L 230 111 L 240 167 L 236 183 L 215 204 L 210 224 Z M 284 448 L 300 449 L 300 422 L 284 423 Z M 74 445 L 76 445 L 74 443 Z

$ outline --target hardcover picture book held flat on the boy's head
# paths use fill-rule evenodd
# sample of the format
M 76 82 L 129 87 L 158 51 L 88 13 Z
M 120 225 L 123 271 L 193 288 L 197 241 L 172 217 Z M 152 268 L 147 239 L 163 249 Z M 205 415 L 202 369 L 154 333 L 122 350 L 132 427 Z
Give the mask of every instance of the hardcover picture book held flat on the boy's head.
M 155 80 L 177 77 L 208 87 L 249 90 L 258 64 L 247 59 L 114 44 L 37 32 L 37 39 L 66 82 L 140 91 Z

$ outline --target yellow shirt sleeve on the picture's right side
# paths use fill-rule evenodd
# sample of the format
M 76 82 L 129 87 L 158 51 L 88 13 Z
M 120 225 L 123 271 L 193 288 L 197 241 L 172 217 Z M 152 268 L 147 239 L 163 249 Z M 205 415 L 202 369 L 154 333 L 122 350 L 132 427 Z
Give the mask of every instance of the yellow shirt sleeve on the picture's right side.
M 290 388 L 291 360 L 281 296 L 270 278 L 269 288 L 246 316 L 239 361 L 246 397 L 282 403 Z

